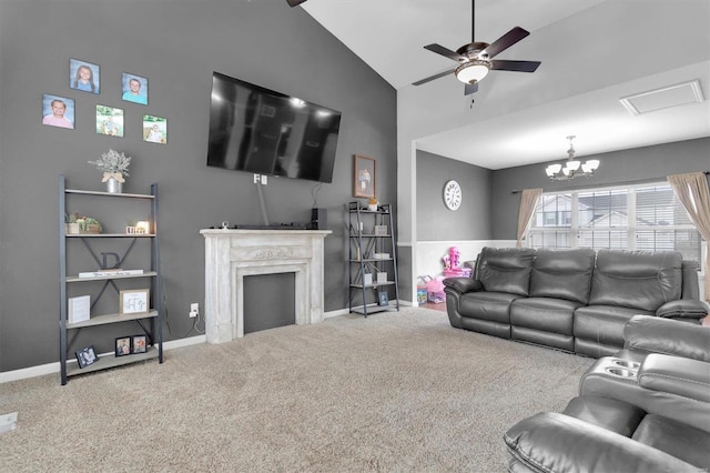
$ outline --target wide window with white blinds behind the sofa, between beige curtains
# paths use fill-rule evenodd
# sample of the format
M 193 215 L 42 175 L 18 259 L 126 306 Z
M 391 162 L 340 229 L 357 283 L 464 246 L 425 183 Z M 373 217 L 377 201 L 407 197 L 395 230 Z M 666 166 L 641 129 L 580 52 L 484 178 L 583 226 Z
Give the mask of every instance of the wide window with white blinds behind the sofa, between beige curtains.
M 547 192 L 530 230 L 531 248 L 674 250 L 701 260 L 701 238 L 667 183 Z

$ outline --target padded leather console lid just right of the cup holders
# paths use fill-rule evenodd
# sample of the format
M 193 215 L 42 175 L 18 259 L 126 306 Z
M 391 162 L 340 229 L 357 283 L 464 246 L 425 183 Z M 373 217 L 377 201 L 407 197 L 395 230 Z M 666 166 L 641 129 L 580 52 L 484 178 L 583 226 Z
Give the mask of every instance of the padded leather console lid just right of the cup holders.
M 639 369 L 639 385 L 710 403 L 710 363 L 652 353 Z

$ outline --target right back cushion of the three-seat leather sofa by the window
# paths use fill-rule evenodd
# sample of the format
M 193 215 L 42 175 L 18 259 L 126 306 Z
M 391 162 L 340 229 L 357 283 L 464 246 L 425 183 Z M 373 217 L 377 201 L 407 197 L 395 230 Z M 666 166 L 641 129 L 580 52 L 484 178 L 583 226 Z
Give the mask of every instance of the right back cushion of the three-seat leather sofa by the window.
M 676 251 L 599 250 L 590 305 L 618 305 L 655 312 L 680 299 L 682 255 Z

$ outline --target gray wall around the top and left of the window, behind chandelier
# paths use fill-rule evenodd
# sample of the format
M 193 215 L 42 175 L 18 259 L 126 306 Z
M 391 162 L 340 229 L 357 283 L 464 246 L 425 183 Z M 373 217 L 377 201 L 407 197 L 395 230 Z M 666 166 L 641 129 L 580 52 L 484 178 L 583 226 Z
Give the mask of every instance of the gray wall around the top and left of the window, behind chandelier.
M 560 152 L 560 154 L 562 153 Z M 550 181 L 545 174 L 545 168 L 550 162 L 495 171 L 493 174 L 493 201 L 496 203 L 496 209 L 493 214 L 493 238 L 495 240 L 516 239 L 520 194 L 514 194 L 514 190 L 582 189 L 605 184 L 661 181 L 669 174 L 710 171 L 710 138 L 596 155 L 579 155 L 579 159 L 582 162 L 588 159 L 601 161 L 594 178 Z M 564 160 L 558 159 L 554 162 L 561 163 Z

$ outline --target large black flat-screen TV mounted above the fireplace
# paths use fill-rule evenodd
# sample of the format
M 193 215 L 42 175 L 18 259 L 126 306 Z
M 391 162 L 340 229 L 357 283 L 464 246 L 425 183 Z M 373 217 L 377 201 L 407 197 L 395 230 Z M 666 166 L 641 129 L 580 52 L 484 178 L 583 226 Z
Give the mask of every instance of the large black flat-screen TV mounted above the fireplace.
M 333 181 L 341 112 L 212 76 L 207 165 Z

